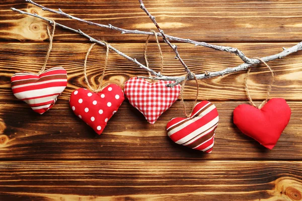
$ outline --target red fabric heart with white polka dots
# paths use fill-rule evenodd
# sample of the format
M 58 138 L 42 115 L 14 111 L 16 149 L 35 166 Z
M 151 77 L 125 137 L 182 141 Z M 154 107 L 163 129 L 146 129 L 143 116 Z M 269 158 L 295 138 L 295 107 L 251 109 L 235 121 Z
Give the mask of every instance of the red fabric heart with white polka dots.
M 124 99 L 121 87 L 109 84 L 98 93 L 85 88 L 74 90 L 70 95 L 69 105 L 75 115 L 101 135 Z

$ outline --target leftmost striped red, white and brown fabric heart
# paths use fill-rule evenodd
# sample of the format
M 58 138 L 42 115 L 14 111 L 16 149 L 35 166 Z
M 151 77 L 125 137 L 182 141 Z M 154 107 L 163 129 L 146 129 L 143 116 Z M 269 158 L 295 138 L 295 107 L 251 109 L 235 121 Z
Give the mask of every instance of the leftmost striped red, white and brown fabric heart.
M 67 72 L 54 67 L 40 75 L 19 72 L 11 78 L 14 95 L 27 103 L 35 112 L 43 114 L 55 104 L 57 97 L 67 86 Z

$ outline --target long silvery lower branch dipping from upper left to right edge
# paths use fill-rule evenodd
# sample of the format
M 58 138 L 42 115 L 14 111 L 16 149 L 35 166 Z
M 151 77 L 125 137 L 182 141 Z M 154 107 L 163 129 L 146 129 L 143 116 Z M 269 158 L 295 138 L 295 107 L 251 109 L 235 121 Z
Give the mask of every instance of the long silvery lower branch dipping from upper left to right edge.
M 33 17 L 45 20 L 46 22 L 48 22 L 50 24 L 52 23 L 51 20 L 43 18 L 43 17 L 41 17 L 41 16 L 39 16 L 37 14 L 31 14 L 31 13 L 23 12 L 23 11 L 20 11 L 18 9 L 15 9 L 15 8 L 11 8 L 11 9 L 13 11 L 19 12 L 20 14 L 30 15 L 30 16 L 33 16 Z M 59 27 L 61 27 L 63 29 L 66 29 L 66 30 L 69 30 L 69 31 L 72 31 L 72 32 L 75 32 L 75 33 L 78 33 L 78 34 L 81 34 L 81 35 L 85 36 L 86 38 L 88 38 L 90 41 L 105 46 L 104 43 L 102 43 L 101 41 L 98 41 L 98 40 L 90 37 L 89 35 L 83 33 L 81 30 L 75 30 L 75 29 L 72 29 L 70 27 L 61 25 L 59 23 L 56 23 L 56 26 L 59 26 Z M 117 49 L 113 48 L 111 45 L 109 45 L 109 48 L 112 49 L 113 51 L 115 51 L 116 53 L 118 53 L 119 55 L 127 58 L 129 61 L 132 61 L 132 62 L 136 63 L 140 68 L 142 68 L 142 69 L 144 69 L 144 70 L 146 70 L 146 71 L 148 71 L 148 72 L 150 72 L 150 73 L 152 73 L 152 74 L 154 74 L 154 75 L 157 76 L 157 77 L 140 77 L 140 78 L 154 79 L 154 80 L 171 80 L 171 81 L 176 81 L 176 83 L 177 82 L 179 83 L 179 82 L 181 82 L 182 80 L 185 79 L 185 76 L 183 76 L 183 77 L 175 77 L 175 76 L 164 76 L 164 75 L 161 75 L 160 73 L 157 73 L 157 72 L 153 71 L 152 69 L 149 69 L 146 66 L 142 65 L 136 59 L 133 59 L 133 58 L 125 55 L 124 53 L 118 51 Z M 281 58 L 283 58 L 283 57 L 285 57 L 285 56 L 287 56 L 287 55 L 289 55 L 291 53 L 297 52 L 299 50 L 302 50 L 302 42 L 300 42 L 300 43 L 298 43 L 295 46 L 292 46 L 290 48 L 286 48 L 285 50 L 283 50 L 282 52 L 280 52 L 278 54 L 267 56 L 267 57 L 262 57 L 261 59 L 264 60 L 265 62 L 269 62 L 269 61 L 273 61 L 273 60 L 276 60 L 276 59 L 281 59 Z M 222 76 L 222 75 L 225 75 L 225 74 L 235 73 L 235 72 L 246 70 L 249 67 L 257 65 L 259 63 L 261 63 L 261 61 L 259 61 L 258 59 L 251 59 L 251 63 L 243 63 L 243 64 L 240 64 L 239 66 L 236 66 L 236 67 L 233 67 L 233 68 L 226 68 L 226 69 L 220 70 L 220 71 L 207 72 L 207 73 L 198 74 L 198 75 L 196 75 L 196 78 L 197 79 L 205 79 L 205 78 L 210 78 L 210 77 L 216 77 L 216 76 Z

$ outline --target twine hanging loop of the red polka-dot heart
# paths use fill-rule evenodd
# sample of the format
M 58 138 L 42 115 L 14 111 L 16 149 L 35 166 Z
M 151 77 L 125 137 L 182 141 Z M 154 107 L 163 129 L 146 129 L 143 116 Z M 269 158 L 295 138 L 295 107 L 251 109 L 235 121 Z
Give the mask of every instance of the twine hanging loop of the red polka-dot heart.
M 106 67 L 107 67 L 107 63 L 108 63 L 108 56 L 109 56 L 109 45 L 106 41 L 101 41 L 102 43 L 105 43 L 106 45 L 106 58 L 105 58 L 105 65 L 104 65 L 104 69 L 103 69 L 103 73 L 102 73 L 102 77 L 101 77 L 101 81 L 99 83 L 99 86 L 97 88 L 94 88 L 90 85 L 89 83 L 89 80 L 88 80 L 88 77 L 87 77 L 87 73 L 86 73 L 86 69 L 87 69 L 87 59 L 88 59 L 88 56 L 92 50 L 92 48 L 96 45 L 96 43 L 93 43 L 90 48 L 88 49 L 87 51 L 87 54 L 86 54 L 86 57 L 85 57 L 85 61 L 84 61 L 84 77 L 85 77 L 85 81 L 88 85 L 88 87 L 90 88 L 90 90 L 94 91 L 94 92 L 100 92 L 102 90 L 102 83 L 103 83 L 103 79 L 104 79 L 104 75 L 105 75 L 105 70 L 106 70 Z

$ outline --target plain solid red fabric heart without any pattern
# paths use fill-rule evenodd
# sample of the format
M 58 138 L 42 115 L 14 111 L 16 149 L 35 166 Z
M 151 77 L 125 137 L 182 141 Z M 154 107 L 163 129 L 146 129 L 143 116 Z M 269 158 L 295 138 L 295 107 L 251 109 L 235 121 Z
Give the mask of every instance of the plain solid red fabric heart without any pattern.
M 270 99 L 260 110 L 243 104 L 235 108 L 234 124 L 268 149 L 277 143 L 287 126 L 291 110 L 283 98 Z

